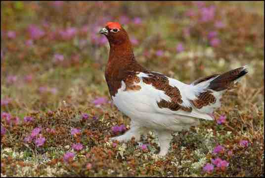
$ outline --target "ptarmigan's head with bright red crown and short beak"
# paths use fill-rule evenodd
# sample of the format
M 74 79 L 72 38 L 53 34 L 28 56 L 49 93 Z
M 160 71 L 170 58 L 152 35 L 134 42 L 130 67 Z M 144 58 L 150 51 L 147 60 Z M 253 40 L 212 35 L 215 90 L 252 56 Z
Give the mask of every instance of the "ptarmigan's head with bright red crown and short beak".
M 110 45 L 124 44 L 129 40 L 128 34 L 118 22 L 107 22 L 99 33 L 107 37 Z

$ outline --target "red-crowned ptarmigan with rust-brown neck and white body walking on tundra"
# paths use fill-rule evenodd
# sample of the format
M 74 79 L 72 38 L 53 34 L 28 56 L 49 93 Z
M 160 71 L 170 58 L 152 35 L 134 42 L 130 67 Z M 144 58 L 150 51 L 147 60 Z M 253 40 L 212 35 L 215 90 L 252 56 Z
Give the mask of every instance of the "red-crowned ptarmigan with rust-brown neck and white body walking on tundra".
M 128 33 L 118 22 L 107 22 L 100 29 L 110 45 L 105 79 L 111 100 L 119 111 L 131 118 L 131 128 L 112 137 L 119 142 L 140 140 L 153 131 L 158 136 L 160 152 L 169 152 L 173 131 L 198 125 L 199 119 L 214 120 L 221 107 L 222 94 L 244 76 L 247 65 L 199 78 L 190 84 L 141 66 L 134 57 Z

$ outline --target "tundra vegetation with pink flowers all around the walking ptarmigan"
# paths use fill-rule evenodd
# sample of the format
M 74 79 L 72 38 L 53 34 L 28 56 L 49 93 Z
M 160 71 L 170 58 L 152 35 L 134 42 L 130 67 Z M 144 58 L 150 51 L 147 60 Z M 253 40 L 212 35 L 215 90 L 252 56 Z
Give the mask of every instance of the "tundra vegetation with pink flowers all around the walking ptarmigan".
M 158 158 L 152 132 L 130 129 L 104 78 L 118 21 L 136 59 L 185 83 L 245 64 L 215 120 L 173 132 Z M 144 118 L 143 118 L 144 119 Z M 1 1 L 1 177 L 264 174 L 264 2 Z

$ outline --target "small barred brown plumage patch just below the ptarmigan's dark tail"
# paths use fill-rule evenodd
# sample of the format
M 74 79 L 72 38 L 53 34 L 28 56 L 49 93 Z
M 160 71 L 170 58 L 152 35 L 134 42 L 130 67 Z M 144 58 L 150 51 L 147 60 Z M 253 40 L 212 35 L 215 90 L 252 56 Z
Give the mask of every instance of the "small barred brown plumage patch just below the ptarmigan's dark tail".
M 216 98 L 211 94 L 211 91 L 203 92 L 199 95 L 198 99 L 191 101 L 195 108 L 201 109 L 209 104 L 214 104 Z

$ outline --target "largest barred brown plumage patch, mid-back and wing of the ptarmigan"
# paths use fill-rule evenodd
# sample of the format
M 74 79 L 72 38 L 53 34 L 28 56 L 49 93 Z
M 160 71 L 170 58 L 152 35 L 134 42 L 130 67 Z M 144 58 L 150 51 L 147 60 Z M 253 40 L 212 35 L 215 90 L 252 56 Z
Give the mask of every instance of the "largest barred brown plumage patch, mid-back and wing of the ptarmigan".
M 180 91 L 177 87 L 173 87 L 169 84 L 169 79 L 165 75 L 156 72 L 146 72 L 146 74 L 148 74 L 149 77 L 142 77 L 144 83 L 151 84 L 156 89 L 165 91 L 165 94 L 171 98 L 171 102 L 166 100 L 157 102 L 159 108 L 168 108 L 172 111 L 177 111 L 179 109 L 187 112 L 192 111 L 192 108 L 186 108 L 180 105 L 183 103 Z

